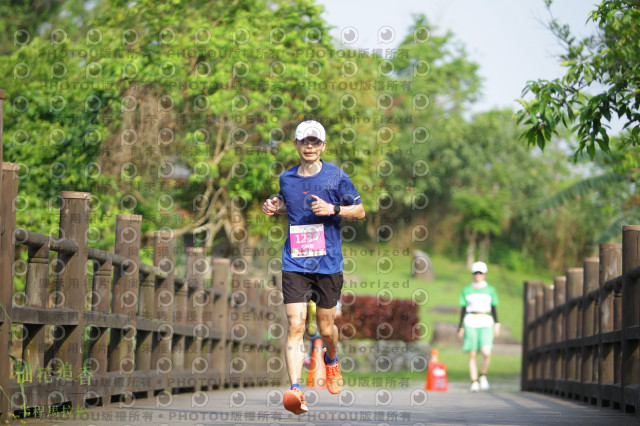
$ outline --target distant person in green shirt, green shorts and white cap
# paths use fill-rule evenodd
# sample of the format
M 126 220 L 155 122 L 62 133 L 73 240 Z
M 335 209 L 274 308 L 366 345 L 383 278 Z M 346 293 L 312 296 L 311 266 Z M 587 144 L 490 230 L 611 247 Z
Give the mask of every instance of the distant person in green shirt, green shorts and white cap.
M 463 338 L 462 350 L 469 352 L 469 376 L 471 392 L 488 390 L 487 371 L 491 362 L 493 337 L 500 334 L 498 323 L 498 294 L 496 289 L 487 284 L 487 264 L 475 262 L 471 265 L 473 282 L 462 289 L 459 304 L 460 326 L 458 336 Z M 482 367 L 478 377 L 476 358 L 478 351 L 482 354 Z

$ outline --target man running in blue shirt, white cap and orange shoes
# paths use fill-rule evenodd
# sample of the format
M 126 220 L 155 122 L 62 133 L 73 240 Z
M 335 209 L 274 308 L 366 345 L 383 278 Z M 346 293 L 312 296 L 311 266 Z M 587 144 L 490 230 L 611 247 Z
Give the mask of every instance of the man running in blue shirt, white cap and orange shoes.
M 284 394 L 284 407 L 295 414 L 308 411 L 300 383 L 304 362 L 303 338 L 307 303 L 317 306 L 316 321 L 324 343 L 327 389 L 342 390 L 342 373 L 334 324 L 336 304 L 342 290 L 342 243 L 340 220 L 365 216 L 362 200 L 349 176 L 320 159 L 326 132 L 317 121 L 303 121 L 294 144 L 300 164 L 280 176 L 280 193 L 265 201 L 264 214 L 287 214 L 289 231 L 282 248 L 282 293 L 289 323 L 285 359 L 291 389 Z

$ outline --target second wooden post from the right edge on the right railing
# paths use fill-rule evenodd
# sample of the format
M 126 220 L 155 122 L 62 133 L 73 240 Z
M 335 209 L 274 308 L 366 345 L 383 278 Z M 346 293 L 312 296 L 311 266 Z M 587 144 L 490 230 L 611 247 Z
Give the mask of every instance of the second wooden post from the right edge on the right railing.
M 614 291 L 605 289 L 605 283 L 622 273 L 622 245 L 600 244 L 600 323 L 598 335 L 598 405 L 612 404 L 612 386 L 616 383 L 616 353 L 619 345 L 605 342 L 602 335 L 614 331 Z

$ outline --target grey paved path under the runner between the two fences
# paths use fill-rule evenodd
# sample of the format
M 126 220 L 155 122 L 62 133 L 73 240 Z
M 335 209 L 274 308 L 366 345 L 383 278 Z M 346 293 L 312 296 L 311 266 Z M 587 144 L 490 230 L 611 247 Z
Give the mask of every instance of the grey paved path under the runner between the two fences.
M 448 392 L 425 392 L 421 383 L 390 389 L 352 388 L 340 395 L 308 389 L 310 412 L 294 416 L 282 408 L 283 390 L 224 389 L 140 399 L 130 407 L 90 409 L 85 419 L 32 419 L 26 425 L 640 424 L 640 417 L 546 395 L 509 391 L 472 394 L 462 384 L 452 384 Z

